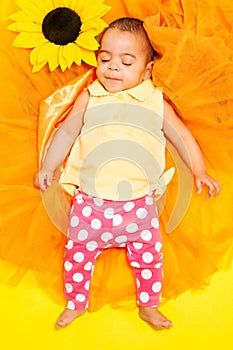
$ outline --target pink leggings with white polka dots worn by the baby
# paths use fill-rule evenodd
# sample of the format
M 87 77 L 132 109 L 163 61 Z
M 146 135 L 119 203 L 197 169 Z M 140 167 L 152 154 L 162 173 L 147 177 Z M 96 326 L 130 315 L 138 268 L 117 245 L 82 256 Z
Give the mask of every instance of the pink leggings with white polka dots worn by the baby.
M 103 249 L 126 247 L 137 303 L 156 307 L 162 288 L 162 242 L 152 195 L 115 202 L 76 191 L 64 260 L 67 308 L 88 308 L 91 276 Z

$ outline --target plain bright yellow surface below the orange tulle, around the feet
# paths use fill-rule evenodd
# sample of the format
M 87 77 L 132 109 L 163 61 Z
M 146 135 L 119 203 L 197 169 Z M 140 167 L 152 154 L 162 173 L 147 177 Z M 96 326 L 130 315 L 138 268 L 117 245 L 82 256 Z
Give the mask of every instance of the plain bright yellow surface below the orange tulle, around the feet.
M 0 267 L 4 281 L 8 266 L 1 263 Z M 1 348 L 231 350 L 232 281 L 233 267 L 216 273 L 203 291 L 184 293 L 167 302 L 161 311 L 174 322 L 168 331 L 153 330 L 138 317 L 137 310 L 114 310 L 109 306 L 56 330 L 54 322 L 62 307 L 54 304 L 28 273 L 15 288 L 0 284 Z

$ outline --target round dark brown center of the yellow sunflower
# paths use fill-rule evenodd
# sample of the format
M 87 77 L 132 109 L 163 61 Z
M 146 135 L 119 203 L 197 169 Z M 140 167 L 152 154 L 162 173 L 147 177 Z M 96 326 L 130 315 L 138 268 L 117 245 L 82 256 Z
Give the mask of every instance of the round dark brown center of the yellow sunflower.
M 75 11 L 58 7 L 45 16 L 42 32 L 51 43 L 67 45 L 77 39 L 81 25 L 81 19 Z

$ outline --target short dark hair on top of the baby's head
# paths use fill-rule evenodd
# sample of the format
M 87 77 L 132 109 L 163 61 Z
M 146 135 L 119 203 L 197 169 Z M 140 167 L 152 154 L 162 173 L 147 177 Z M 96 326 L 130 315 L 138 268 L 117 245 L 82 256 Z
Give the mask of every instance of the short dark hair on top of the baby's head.
M 153 61 L 154 57 L 157 55 L 144 29 L 143 21 L 140 19 L 132 17 L 118 18 L 110 23 L 106 30 L 108 30 L 108 28 L 117 28 L 122 31 L 141 34 L 145 39 L 145 45 L 148 51 L 148 60 Z

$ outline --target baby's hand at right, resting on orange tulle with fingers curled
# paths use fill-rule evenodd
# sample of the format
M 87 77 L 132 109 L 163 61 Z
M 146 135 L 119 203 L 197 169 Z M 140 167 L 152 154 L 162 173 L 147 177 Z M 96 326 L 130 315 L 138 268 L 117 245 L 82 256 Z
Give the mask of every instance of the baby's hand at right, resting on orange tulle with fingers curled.
M 195 184 L 197 188 L 197 194 L 200 194 L 202 192 L 203 186 L 208 187 L 208 193 L 206 196 L 207 199 L 209 199 L 212 196 L 212 194 L 214 194 L 215 197 L 217 197 L 222 187 L 220 182 L 214 180 L 211 176 L 209 176 L 206 173 L 201 175 L 196 175 Z

